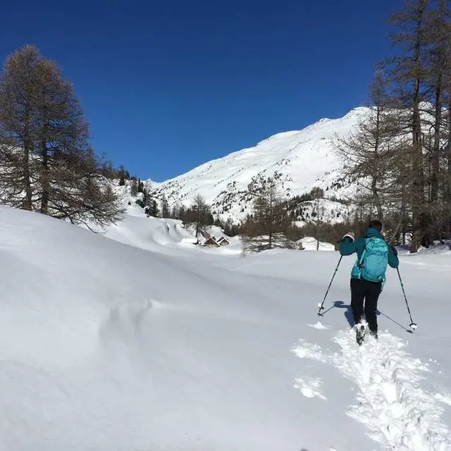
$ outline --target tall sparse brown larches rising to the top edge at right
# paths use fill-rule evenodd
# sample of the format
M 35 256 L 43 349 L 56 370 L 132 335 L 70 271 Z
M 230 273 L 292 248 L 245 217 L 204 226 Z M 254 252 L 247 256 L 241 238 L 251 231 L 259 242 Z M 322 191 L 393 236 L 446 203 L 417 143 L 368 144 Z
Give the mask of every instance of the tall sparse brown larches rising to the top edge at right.
M 411 252 L 451 237 L 451 9 L 408 0 L 390 17 L 395 54 L 376 66 L 369 116 L 335 140 L 359 187 L 354 222 L 378 216 Z

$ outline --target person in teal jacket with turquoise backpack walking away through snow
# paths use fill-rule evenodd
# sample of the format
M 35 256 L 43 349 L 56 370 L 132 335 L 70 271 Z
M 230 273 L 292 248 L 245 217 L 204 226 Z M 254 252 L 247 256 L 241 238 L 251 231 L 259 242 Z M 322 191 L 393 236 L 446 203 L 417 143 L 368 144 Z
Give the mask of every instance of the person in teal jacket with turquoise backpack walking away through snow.
M 378 321 L 376 310 L 378 298 L 385 282 L 387 265 L 397 268 L 400 264 L 397 250 L 385 242 L 381 221 L 371 221 L 365 234 L 354 240 L 352 232 L 347 233 L 340 242 L 340 254 L 352 255 L 357 252 L 357 261 L 351 271 L 351 309 L 359 345 L 364 340 L 365 328 L 362 316 L 371 335 L 378 338 Z

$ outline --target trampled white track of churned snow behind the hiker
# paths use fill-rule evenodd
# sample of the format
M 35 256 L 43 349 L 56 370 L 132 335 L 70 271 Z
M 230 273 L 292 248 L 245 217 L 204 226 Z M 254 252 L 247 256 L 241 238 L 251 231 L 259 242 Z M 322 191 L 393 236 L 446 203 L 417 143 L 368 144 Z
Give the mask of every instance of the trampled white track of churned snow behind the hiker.
M 340 331 L 332 340 L 340 352 L 326 354 L 304 340 L 294 352 L 302 359 L 332 364 L 357 385 L 357 403 L 347 414 L 369 428 L 369 437 L 387 451 L 451 450 L 450 431 L 440 419 L 440 403 L 450 404 L 450 397 L 420 388 L 428 369 L 403 349 L 405 342 L 382 333 L 379 340 L 367 339 L 359 347 L 352 330 Z M 319 392 L 322 381 L 314 381 L 297 378 L 295 386 L 304 396 L 326 399 Z

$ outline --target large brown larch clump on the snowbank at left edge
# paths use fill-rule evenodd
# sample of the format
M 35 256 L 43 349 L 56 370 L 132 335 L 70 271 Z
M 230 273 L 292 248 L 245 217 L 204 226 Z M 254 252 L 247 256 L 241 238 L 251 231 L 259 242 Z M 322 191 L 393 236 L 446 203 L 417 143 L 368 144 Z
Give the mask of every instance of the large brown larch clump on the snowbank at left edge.
M 25 46 L 0 75 L 0 198 L 73 223 L 104 226 L 121 216 L 88 125 L 54 61 Z

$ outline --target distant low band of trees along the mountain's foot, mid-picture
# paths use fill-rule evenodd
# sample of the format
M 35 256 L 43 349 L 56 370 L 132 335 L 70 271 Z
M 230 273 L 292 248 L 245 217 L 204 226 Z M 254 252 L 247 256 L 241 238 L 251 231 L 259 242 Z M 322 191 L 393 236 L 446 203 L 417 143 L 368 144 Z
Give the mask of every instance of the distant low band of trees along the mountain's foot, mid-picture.
M 285 197 L 278 174 L 249 183 L 246 197 L 252 199 L 252 209 L 239 223 L 234 223 L 230 217 L 223 221 L 219 216 L 215 216 L 211 206 L 201 195 L 194 197 L 190 206 L 180 203 L 171 206 L 164 195 L 153 197 L 152 192 L 135 176 L 130 178 L 130 192 L 137 197 L 136 204 L 140 205 L 148 216 L 183 221 L 187 226 L 192 226 L 196 237 L 199 237 L 199 234 L 208 235 L 208 226 L 218 226 L 230 237 L 240 235 L 245 252 L 260 252 L 274 247 L 294 248 L 297 247 L 295 242 L 304 236 L 336 243 L 350 228 L 363 229 L 360 223 L 352 222 L 350 218 L 345 218 L 344 223 L 335 225 L 323 221 L 318 202 L 325 199 L 325 194 L 319 187 L 295 197 Z M 327 199 L 342 204 L 348 203 L 334 196 Z M 303 227 L 297 227 L 294 223 L 306 202 L 314 205 L 314 220 Z

